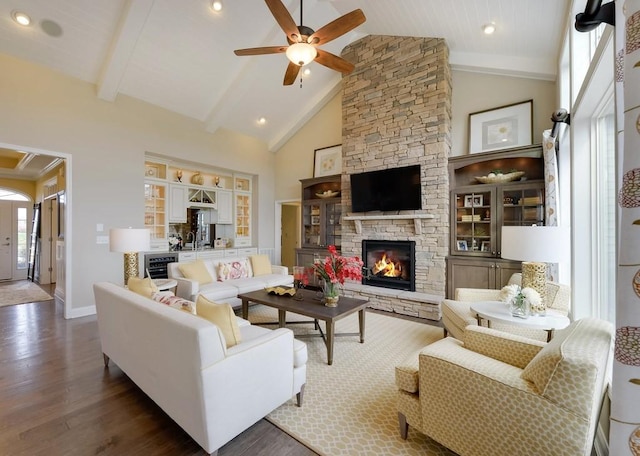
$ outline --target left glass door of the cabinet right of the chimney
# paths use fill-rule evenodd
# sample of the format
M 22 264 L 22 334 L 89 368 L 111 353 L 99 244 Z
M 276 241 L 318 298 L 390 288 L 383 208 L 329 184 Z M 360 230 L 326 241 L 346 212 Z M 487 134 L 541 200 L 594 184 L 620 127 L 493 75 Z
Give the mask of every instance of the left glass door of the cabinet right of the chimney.
M 454 192 L 452 250 L 456 255 L 495 256 L 495 189 Z

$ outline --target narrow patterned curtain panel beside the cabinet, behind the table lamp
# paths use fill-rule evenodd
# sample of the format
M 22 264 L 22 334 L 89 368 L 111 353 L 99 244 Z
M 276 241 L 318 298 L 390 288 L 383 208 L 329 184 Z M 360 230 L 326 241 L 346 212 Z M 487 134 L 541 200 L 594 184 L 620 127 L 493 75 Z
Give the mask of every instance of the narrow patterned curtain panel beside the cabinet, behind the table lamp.
M 556 157 L 556 137 L 551 130 L 542 132 L 542 153 L 544 155 L 544 209 L 545 225 L 558 225 L 558 159 Z M 558 265 L 547 265 L 547 279 L 558 281 Z

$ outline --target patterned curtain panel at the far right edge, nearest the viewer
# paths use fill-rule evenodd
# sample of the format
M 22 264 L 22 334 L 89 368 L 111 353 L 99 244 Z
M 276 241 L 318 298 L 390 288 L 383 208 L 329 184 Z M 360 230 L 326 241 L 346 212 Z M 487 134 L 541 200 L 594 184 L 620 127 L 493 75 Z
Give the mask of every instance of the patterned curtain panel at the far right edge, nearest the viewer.
M 618 203 L 616 342 L 609 454 L 640 455 L 640 0 L 616 0 Z

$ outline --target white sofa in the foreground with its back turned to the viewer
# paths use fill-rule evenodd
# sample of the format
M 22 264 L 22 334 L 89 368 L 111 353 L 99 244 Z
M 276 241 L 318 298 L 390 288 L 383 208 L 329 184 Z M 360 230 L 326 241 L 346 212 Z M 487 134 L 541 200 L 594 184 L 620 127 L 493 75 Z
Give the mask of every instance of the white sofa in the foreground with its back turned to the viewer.
M 289 329 L 241 320 L 230 348 L 216 325 L 112 283 L 93 286 L 105 366 L 112 359 L 209 454 L 297 395 L 307 349 Z

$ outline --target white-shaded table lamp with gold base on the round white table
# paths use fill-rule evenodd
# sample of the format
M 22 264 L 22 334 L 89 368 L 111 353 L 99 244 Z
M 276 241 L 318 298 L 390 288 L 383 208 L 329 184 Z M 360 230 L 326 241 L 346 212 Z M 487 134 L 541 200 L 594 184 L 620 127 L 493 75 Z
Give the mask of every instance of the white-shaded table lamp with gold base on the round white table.
M 562 226 L 503 226 L 501 257 L 522 261 L 522 288 L 533 288 L 546 307 L 547 263 L 569 258 L 569 229 Z

